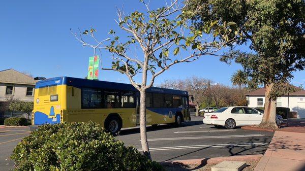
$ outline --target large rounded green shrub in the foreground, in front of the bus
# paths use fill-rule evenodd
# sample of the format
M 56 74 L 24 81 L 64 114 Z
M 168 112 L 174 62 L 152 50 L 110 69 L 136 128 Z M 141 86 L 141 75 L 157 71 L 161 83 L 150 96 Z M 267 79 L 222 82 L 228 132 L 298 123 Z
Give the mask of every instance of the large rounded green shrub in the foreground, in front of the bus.
M 42 125 L 11 158 L 15 170 L 164 170 L 95 122 Z

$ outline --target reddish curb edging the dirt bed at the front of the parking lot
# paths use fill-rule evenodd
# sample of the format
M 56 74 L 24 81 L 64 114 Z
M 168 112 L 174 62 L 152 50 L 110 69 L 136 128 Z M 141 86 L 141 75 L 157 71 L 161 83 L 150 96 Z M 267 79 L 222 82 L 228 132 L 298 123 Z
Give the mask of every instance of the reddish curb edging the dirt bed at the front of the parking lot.
M 262 154 L 251 154 L 244 156 L 230 156 L 230 157 L 215 157 L 215 158 L 201 158 L 201 159 L 190 159 L 190 160 L 174 160 L 160 162 L 162 165 L 173 165 L 173 164 L 217 164 L 222 161 L 258 161 L 261 159 Z

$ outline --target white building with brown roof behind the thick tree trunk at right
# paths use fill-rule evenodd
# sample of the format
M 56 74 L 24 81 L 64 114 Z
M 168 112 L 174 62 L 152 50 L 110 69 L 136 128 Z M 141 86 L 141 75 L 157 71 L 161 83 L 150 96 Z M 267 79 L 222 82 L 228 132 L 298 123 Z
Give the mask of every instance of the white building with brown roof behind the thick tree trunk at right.
M 265 88 L 258 88 L 246 94 L 249 107 L 264 107 Z M 288 101 L 289 100 L 289 101 Z M 288 105 L 289 104 L 289 105 Z M 289 108 L 297 118 L 305 118 L 305 90 L 297 90 L 277 98 L 277 107 Z

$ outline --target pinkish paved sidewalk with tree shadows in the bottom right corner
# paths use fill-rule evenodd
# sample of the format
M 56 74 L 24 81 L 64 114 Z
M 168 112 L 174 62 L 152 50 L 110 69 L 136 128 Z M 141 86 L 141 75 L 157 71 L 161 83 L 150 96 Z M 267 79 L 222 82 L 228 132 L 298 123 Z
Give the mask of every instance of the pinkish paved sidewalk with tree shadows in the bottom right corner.
M 255 171 L 305 170 L 305 124 L 276 131 Z

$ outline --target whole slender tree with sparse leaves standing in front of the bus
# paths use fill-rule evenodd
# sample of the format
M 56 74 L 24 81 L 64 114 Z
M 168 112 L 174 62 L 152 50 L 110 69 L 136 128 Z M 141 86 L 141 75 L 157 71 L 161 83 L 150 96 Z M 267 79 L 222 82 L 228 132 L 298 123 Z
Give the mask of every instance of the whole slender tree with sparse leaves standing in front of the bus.
M 113 35 L 109 45 L 103 44 L 108 39 L 99 41 L 96 38 L 94 28 L 71 32 L 82 46 L 93 48 L 94 55 L 102 49 L 108 50 L 112 54 L 112 66 L 102 66 L 102 70 L 125 74 L 140 92 L 141 145 L 144 154 L 151 158 L 146 135 L 146 90 L 172 65 L 191 62 L 205 55 L 218 55 L 224 47 L 232 46 L 240 33 L 235 23 L 220 20 L 206 21 L 208 24 L 204 29 L 197 29 L 184 16 L 188 12 L 182 12 L 189 1 L 172 0 L 156 10 L 151 10 L 149 3 L 140 2 L 146 7 L 146 13 L 135 11 L 125 15 L 122 10 L 117 11 L 116 22 L 126 32 L 124 41 L 113 30 L 109 32 Z M 84 36 L 90 40 L 85 40 Z M 187 53 L 182 55 L 182 50 Z M 135 76 L 140 76 L 140 84 L 135 82 Z

